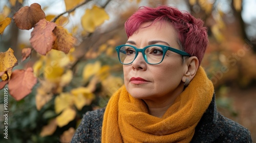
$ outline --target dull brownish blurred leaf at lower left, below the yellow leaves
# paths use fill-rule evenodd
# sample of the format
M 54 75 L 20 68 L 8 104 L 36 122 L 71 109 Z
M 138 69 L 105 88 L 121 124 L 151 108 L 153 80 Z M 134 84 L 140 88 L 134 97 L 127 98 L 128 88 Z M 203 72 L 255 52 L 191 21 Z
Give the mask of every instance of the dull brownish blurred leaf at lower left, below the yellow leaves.
M 40 136 L 44 137 L 44 136 L 52 135 L 56 131 L 56 129 L 57 129 L 57 123 L 56 123 L 56 118 L 54 118 L 49 122 L 48 125 L 42 127 Z

